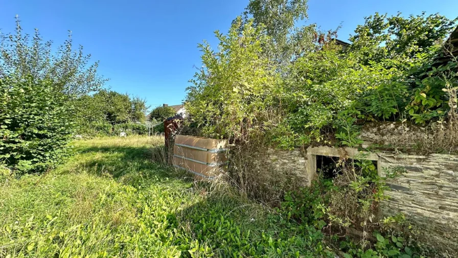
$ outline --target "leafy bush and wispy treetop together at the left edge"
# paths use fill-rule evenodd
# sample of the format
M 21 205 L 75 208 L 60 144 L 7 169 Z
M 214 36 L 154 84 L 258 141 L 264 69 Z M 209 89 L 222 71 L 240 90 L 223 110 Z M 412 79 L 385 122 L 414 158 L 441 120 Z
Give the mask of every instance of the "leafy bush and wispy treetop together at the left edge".
M 0 36 L 0 163 L 20 173 L 42 172 L 65 156 L 75 130 L 76 100 L 99 90 L 98 62 L 71 34 L 53 52 L 38 30 Z M 97 115 L 91 115 L 93 117 Z

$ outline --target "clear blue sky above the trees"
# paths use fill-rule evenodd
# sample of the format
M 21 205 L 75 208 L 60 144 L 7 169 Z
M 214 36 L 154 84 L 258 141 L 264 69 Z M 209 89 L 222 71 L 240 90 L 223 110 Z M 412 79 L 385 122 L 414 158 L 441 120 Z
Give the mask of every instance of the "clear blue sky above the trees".
M 32 33 L 60 45 L 72 30 L 75 44 L 84 46 L 112 90 L 145 98 L 153 107 L 179 104 L 188 80 L 200 66 L 197 43 L 216 48 L 215 30 L 226 32 L 248 0 L 101 1 L 0 0 L 0 29 L 14 31 L 14 16 Z M 322 29 L 342 23 L 339 39 L 346 40 L 363 17 L 374 12 L 458 16 L 457 0 L 309 0 L 309 21 Z

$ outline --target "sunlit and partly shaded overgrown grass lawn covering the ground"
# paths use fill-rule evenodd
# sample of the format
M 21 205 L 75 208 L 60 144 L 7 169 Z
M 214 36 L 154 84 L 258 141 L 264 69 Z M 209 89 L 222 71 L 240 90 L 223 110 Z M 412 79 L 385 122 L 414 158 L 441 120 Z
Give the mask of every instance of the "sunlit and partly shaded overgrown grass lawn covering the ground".
M 75 141 L 44 175 L 0 181 L 0 257 L 307 257 L 319 231 L 151 157 L 162 137 Z

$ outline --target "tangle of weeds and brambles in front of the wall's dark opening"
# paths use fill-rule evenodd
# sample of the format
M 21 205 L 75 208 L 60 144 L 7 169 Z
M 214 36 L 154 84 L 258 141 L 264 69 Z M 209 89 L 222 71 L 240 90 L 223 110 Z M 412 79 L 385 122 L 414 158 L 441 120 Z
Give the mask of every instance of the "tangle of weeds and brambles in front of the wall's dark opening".
M 405 224 L 404 216 L 378 216 L 379 203 L 388 198 L 386 179 L 399 177 L 405 169 L 391 167 L 380 177 L 374 163 L 364 158 L 339 159 L 334 166 L 322 166 L 311 187 L 286 193 L 279 213 L 288 221 L 321 230 L 331 243 L 339 240 L 344 257 L 419 257 L 417 248 L 407 246 L 409 231 L 394 230 Z M 334 177 L 324 178 L 329 172 Z

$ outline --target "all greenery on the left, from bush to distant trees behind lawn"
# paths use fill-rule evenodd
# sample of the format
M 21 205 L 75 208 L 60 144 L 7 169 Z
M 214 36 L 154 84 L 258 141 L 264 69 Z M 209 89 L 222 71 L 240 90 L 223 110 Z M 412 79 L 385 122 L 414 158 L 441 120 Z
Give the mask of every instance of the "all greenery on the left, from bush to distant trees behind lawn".
M 146 134 L 145 100 L 102 90 L 98 62 L 71 34 L 54 51 L 38 30 L 0 37 L 0 162 L 24 173 L 60 162 L 73 134 Z

